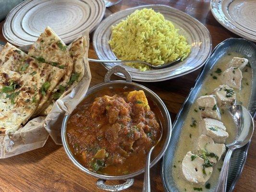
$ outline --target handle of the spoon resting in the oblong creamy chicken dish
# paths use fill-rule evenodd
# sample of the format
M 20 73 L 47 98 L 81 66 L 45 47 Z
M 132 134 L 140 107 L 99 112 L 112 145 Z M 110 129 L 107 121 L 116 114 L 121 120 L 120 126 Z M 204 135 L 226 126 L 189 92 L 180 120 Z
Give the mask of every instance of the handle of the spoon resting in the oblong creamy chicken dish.
M 223 165 L 219 174 L 219 181 L 215 192 L 226 192 L 229 162 L 234 149 L 234 147 L 230 147 L 224 158 Z

